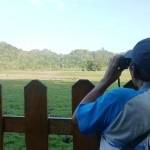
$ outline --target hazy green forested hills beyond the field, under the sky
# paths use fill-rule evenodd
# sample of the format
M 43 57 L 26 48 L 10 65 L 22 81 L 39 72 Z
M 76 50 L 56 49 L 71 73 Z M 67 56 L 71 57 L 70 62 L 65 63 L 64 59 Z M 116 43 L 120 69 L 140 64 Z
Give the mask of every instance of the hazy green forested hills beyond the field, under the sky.
M 0 70 L 88 70 L 105 67 L 113 53 L 104 48 L 97 51 L 76 49 L 57 54 L 49 49 L 23 51 L 0 42 Z

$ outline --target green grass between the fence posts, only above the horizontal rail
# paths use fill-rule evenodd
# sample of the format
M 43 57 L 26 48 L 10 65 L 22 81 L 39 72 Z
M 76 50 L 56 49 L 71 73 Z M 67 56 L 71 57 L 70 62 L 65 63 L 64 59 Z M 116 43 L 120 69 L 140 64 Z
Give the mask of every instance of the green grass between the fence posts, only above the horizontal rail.
M 24 115 L 24 86 L 29 80 L 1 80 L 4 114 Z M 42 81 L 47 86 L 48 113 L 71 116 L 71 86 L 69 81 Z

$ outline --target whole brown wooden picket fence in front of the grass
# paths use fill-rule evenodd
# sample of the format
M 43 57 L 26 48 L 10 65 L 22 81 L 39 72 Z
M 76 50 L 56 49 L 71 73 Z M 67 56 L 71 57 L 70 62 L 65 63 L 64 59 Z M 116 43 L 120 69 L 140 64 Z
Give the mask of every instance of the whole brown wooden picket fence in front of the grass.
M 72 112 L 94 85 L 79 80 L 72 86 Z M 81 135 L 71 118 L 48 117 L 47 88 L 37 80 L 24 88 L 25 116 L 3 116 L 0 86 L 0 150 L 4 150 L 4 132 L 25 133 L 27 150 L 48 150 L 48 135 L 72 135 L 73 150 L 98 150 L 98 136 Z M 50 148 L 49 148 L 50 149 Z

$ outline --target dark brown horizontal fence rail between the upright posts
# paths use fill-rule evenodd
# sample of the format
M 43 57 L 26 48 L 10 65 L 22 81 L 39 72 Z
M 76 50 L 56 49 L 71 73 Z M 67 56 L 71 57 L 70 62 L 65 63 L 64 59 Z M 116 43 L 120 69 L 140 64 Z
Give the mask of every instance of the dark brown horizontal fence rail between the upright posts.
M 8 117 L 4 116 L 4 132 L 22 132 L 25 133 L 25 118 L 24 117 Z M 64 134 L 72 135 L 72 120 L 71 118 L 48 118 L 49 134 Z

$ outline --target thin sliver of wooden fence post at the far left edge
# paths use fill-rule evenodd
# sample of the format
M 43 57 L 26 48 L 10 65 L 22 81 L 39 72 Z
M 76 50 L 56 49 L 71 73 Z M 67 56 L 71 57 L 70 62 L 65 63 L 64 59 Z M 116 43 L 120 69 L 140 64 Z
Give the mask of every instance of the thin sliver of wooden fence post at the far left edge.
M 2 111 L 2 87 L 0 85 L 0 150 L 3 150 L 3 111 Z

